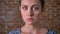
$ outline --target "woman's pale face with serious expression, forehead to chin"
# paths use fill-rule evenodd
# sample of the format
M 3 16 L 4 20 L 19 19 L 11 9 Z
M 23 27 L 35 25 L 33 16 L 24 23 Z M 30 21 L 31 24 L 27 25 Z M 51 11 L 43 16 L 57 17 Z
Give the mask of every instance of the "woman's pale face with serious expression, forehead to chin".
M 25 24 L 32 24 L 39 20 L 42 9 L 39 0 L 21 0 L 20 10 Z

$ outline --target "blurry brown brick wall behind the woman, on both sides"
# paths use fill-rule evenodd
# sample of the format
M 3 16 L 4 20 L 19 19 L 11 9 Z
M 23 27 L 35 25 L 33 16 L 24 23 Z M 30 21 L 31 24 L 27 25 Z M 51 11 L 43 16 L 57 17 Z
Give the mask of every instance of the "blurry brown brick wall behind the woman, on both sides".
M 0 0 L 0 34 L 7 34 L 21 25 L 18 4 L 19 0 Z M 44 6 L 45 17 L 41 17 L 41 24 L 60 33 L 60 0 L 45 0 Z

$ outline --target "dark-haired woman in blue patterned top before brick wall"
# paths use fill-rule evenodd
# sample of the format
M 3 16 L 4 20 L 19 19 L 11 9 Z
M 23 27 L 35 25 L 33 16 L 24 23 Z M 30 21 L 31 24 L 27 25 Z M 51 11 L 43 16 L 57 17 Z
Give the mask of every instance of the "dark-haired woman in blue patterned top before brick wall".
M 40 16 L 43 14 L 44 0 L 21 0 L 20 11 L 24 26 L 8 34 L 56 34 L 41 26 Z

